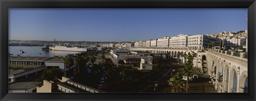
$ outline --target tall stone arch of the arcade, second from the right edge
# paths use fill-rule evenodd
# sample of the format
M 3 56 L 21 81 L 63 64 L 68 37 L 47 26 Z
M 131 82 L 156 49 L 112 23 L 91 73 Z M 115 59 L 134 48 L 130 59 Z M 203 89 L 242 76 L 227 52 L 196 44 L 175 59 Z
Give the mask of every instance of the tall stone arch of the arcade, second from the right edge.
M 230 78 L 229 78 L 229 89 L 228 89 L 228 91 L 229 91 L 229 93 L 231 93 L 231 92 L 235 92 L 235 93 L 237 93 L 237 84 L 238 84 L 238 72 L 237 72 L 237 68 L 236 68 L 236 66 L 232 66 L 231 67 L 231 69 L 230 69 Z M 235 76 L 235 77 L 234 77 Z M 234 80 L 236 80 L 236 81 L 234 81 Z M 234 85 L 233 85 L 234 84 Z M 235 88 L 233 88 L 233 87 L 235 87 Z

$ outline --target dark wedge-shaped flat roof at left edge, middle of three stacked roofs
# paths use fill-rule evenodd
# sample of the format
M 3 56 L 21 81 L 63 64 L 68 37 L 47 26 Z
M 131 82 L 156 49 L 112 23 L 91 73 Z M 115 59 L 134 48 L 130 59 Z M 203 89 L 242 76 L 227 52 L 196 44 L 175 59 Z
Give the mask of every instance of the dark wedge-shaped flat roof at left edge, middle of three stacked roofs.
M 22 65 L 9 65 L 9 76 L 14 76 L 14 75 L 18 75 L 21 74 L 22 72 L 27 72 L 30 70 L 34 70 L 36 68 L 40 68 L 40 67 L 44 67 L 44 66 L 22 66 Z

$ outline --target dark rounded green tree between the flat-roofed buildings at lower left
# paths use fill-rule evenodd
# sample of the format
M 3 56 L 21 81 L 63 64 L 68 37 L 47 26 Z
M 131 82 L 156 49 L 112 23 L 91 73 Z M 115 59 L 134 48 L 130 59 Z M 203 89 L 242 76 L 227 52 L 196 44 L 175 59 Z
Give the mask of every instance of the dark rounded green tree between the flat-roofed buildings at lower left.
M 63 72 L 57 68 L 53 67 L 49 70 L 44 70 L 41 76 L 42 80 L 52 80 L 55 78 L 61 78 L 63 76 Z

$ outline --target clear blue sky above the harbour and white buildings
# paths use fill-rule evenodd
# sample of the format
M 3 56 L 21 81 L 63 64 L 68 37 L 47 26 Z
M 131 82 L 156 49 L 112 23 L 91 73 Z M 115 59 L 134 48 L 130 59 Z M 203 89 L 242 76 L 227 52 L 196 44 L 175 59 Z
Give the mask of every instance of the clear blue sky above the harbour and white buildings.
M 247 8 L 10 8 L 9 40 L 142 41 L 247 30 Z

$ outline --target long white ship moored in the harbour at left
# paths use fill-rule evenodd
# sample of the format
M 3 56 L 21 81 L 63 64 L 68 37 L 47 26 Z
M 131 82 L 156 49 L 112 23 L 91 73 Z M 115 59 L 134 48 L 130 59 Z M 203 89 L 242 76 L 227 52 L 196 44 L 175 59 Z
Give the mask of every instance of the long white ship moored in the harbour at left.
M 59 50 L 59 51 L 77 51 L 77 52 L 87 51 L 86 48 L 66 47 L 66 46 L 60 46 L 60 45 L 55 45 L 54 47 L 49 47 L 49 49 L 50 50 Z

